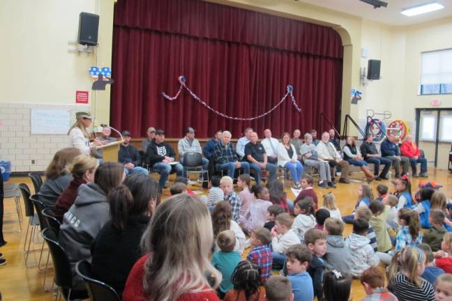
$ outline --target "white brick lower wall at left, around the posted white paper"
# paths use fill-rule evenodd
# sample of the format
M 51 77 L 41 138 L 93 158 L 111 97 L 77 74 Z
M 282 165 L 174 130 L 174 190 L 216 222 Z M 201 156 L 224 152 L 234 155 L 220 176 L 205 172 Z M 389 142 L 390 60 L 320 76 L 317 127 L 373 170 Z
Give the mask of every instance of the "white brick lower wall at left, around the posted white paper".
M 68 146 L 67 135 L 30 134 L 31 108 L 67 109 L 74 121 L 76 111 L 91 110 L 86 105 L 0 103 L 0 160 L 12 162 L 13 172 L 44 171 L 54 153 Z

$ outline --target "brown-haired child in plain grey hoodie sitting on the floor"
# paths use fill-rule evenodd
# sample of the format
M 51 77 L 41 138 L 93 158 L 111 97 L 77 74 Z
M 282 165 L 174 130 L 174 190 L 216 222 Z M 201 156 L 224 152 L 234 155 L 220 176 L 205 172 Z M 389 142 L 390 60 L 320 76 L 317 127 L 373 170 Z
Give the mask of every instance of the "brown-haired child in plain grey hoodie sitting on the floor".
M 352 254 L 348 242 L 342 236 L 344 223 L 335 217 L 325 220 L 324 234 L 326 236 L 325 268 L 337 270 L 342 274 L 350 274 Z

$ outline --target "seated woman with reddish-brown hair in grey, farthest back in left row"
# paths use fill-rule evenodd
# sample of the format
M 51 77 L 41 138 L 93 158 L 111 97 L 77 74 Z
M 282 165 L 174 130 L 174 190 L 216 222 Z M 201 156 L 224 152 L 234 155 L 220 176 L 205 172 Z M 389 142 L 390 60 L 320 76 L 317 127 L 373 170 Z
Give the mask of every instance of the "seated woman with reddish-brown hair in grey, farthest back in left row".
M 63 148 L 55 153 L 52 162 L 45 169 L 45 182 L 39 192 L 35 192 L 45 207 L 52 209 L 55 207 L 60 194 L 72 180 L 68 167 L 80 154 L 77 148 Z

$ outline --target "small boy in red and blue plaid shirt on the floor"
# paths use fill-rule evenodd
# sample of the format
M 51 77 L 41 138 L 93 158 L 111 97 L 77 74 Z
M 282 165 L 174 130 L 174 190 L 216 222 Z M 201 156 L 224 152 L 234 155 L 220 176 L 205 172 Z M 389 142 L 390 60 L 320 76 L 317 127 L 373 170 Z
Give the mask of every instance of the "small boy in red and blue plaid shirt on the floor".
M 273 256 L 269 249 L 269 243 L 271 242 L 271 234 L 269 229 L 263 227 L 256 228 L 251 233 L 250 243 L 253 245 L 246 260 L 253 261 L 261 269 L 262 283 L 269 279 L 271 276 L 271 263 L 273 262 Z

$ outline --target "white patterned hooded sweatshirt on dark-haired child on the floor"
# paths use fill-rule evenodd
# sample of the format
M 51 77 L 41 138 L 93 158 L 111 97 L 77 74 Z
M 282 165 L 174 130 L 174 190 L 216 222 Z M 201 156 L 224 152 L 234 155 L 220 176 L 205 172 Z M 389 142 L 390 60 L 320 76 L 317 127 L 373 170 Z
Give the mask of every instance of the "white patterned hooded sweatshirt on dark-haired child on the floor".
M 352 276 L 360 277 L 364 270 L 379 263 L 379 258 L 370 246 L 370 239 L 355 233 L 350 234 L 348 239 L 350 251 L 352 252 Z

